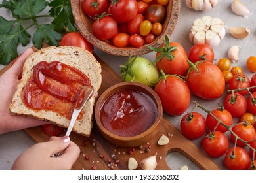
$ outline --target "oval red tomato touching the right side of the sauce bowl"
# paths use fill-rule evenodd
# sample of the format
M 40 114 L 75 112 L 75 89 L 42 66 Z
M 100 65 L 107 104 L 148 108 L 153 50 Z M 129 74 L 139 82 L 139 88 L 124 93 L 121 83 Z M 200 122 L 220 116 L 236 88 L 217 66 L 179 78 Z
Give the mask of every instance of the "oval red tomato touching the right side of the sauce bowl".
M 163 75 L 163 73 L 162 73 Z M 184 80 L 178 76 L 165 76 L 156 84 L 163 110 L 171 115 L 183 114 L 190 105 L 190 90 Z

